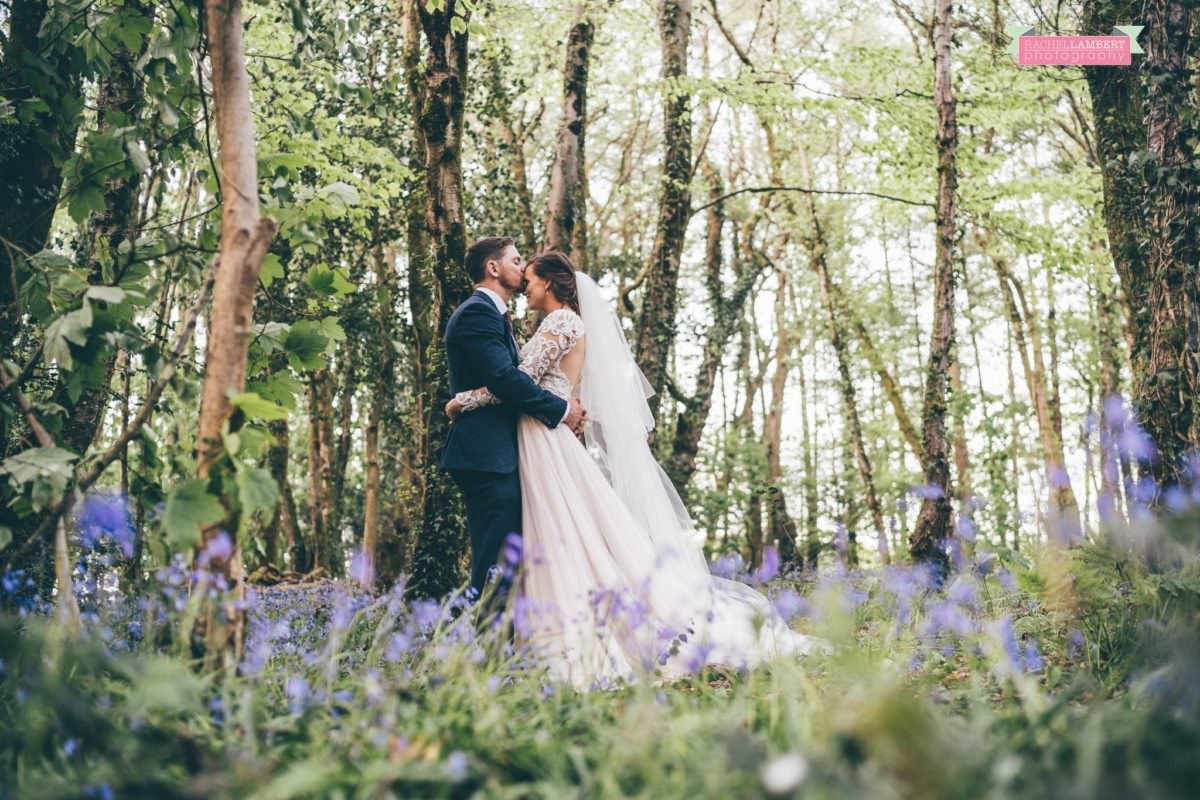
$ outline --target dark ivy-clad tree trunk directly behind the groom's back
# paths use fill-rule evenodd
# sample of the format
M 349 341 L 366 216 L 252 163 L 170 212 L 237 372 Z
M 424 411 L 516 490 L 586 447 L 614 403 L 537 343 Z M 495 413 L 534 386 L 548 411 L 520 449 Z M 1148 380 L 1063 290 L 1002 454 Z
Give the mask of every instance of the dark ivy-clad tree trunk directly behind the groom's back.
M 421 28 L 428 43 L 425 58 L 425 96 L 418 120 L 425 138 L 425 176 L 428 192 L 426 228 L 432 245 L 436 333 L 425 348 L 426 375 L 436 377 L 426 413 L 428 447 L 424 453 L 425 497 L 421 533 L 413 552 L 410 587 L 418 596 L 439 597 L 458 585 L 467 552 L 461 498 L 450 476 L 433 459 L 445 440 L 449 421 L 442 408 L 450 401 L 446 380 L 445 326 L 450 312 L 470 294 L 463 269 L 467 249 L 462 198 L 462 120 L 467 82 L 467 31 L 451 28 L 457 0 L 445 0 L 432 10 L 425 0 L 418 6 Z M 466 18 L 466 13 L 461 14 Z M 427 384 L 427 385 L 430 385 Z

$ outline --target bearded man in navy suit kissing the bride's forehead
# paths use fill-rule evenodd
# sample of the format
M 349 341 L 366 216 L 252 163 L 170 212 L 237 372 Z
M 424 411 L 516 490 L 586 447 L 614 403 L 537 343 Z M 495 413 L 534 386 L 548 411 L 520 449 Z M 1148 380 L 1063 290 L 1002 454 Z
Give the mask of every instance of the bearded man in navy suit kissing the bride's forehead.
M 462 414 L 450 426 L 438 465 L 462 489 L 470 530 L 470 588 L 484 589 L 510 533 L 521 533 L 517 419 L 527 414 L 548 428 L 565 423 L 576 433 L 586 411 L 540 389 L 517 369 L 509 301 L 524 288 L 524 261 L 510 236 L 485 236 L 467 248 L 467 273 L 475 293 L 446 324 L 450 393 L 487 386 L 500 403 Z M 508 582 L 497 588 L 503 602 Z

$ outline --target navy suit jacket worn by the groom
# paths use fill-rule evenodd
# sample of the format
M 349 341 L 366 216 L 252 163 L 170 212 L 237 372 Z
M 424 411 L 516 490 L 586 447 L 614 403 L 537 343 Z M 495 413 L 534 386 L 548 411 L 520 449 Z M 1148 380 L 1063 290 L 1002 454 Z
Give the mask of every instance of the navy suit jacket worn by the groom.
M 566 414 L 566 401 L 517 369 L 516 342 L 482 291 L 475 291 L 451 314 L 445 347 L 451 395 L 487 386 L 502 402 L 460 415 L 438 452 L 438 465 L 511 473 L 517 468 L 517 419 L 527 414 L 553 428 Z

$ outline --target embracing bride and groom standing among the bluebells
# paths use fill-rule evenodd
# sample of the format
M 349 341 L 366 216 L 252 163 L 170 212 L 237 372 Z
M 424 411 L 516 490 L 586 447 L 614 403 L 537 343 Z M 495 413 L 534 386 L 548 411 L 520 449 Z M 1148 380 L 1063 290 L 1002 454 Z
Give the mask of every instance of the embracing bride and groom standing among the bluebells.
M 757 590 L 709 572 L 647 441 L 653 390 L 595 282 L 562 253 L 524 263 L 508 236 L 464 260 L 475 291 L 446 325 L 452 423 L 438 464 L 466 501 L 472 594 L 490 579 L 493 599 L 515 590 L 517 634 L 580 688 L 823 649 Z M 522 347 L 508 308 L 520 293 L 545 313 Z M 510 587 L 497 565 L 517 541 Z

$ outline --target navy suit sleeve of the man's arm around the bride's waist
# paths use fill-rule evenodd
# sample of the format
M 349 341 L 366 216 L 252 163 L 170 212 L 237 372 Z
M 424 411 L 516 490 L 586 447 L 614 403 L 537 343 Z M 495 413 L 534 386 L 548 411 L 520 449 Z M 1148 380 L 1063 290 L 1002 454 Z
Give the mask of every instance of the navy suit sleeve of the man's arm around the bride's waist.
M 508 331 L 498 314 L 487 313 L 481 305 L 464 308 L 454 337 L 463 344 L 460 351 L 470 360 L 475 374 L 484 377 L 484 385 L 497 398 L 548 428 L 566 417 L 566 401 L 538 386 L 512 363 L 505 343 Z M 467 338 L 469 344 L 463 342 Z

